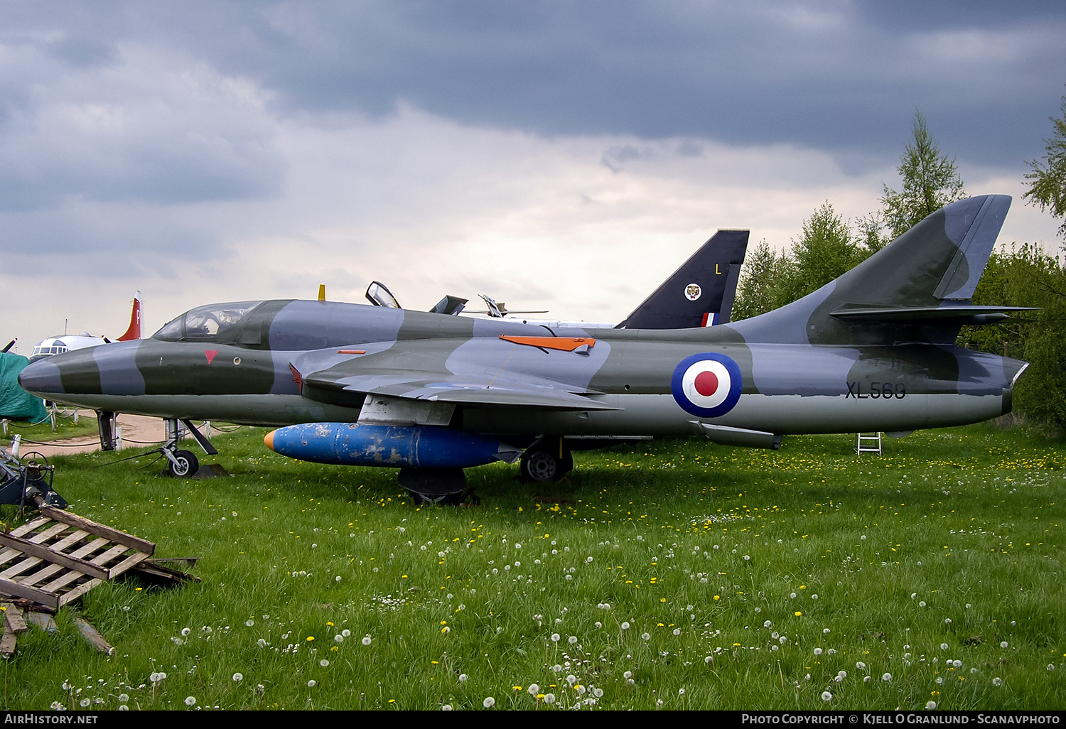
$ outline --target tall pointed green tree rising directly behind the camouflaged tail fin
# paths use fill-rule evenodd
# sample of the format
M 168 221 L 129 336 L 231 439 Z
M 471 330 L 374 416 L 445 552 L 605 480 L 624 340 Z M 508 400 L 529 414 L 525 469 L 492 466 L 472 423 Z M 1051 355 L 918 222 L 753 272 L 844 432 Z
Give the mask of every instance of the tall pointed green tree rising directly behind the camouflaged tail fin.
M 915 112 L 914 132 L 915 143 L 907 145 L 897 167 L 903 178 L 903 190 L 895 192 L 886 184 L 885 196 L 881 198 L 890 239 L 966 196 L 955 161 L 940 153 L 921 112 Z

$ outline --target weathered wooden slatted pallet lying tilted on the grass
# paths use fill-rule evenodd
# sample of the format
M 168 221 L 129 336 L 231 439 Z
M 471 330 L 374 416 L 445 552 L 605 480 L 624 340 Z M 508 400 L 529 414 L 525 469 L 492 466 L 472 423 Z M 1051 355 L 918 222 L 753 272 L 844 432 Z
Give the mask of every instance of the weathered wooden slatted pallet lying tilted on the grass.
M 39 508 L 38 517 L 0 534 L 0 594 L 54 612 L 156 551 L 150 541 L 77 514 Z

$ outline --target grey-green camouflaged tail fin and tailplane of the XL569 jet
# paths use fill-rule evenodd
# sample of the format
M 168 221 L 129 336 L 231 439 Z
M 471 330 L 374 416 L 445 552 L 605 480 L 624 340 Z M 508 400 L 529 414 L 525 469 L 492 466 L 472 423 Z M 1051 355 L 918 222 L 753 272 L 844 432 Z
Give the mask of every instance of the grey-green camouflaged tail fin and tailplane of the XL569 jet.
M 732 326 L 748 341 L 953 343 L 963 324 L 1017 310 L 970 304 L 1010 207 L 1007 195 L 952 203 L 818 291 Z

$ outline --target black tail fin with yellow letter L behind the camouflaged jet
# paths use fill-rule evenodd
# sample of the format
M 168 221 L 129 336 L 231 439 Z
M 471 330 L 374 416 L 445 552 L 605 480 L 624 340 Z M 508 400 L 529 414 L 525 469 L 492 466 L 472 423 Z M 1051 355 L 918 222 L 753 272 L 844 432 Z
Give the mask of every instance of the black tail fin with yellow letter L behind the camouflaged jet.
M 617 328 L 689 329 L 728 322 L 747 238 L 747 230 L 718 230 Z

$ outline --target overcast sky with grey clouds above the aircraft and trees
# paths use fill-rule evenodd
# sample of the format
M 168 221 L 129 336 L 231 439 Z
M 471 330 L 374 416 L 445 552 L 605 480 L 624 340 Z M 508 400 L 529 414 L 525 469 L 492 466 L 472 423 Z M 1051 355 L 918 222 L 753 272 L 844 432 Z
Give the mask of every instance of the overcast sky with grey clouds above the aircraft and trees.
M 916 110 L 1053 253 L 1064 38 L 1061 2 L 0 2 L 0 339 L 375 278 L 618 321 L 716 228 L 876 210 Z

